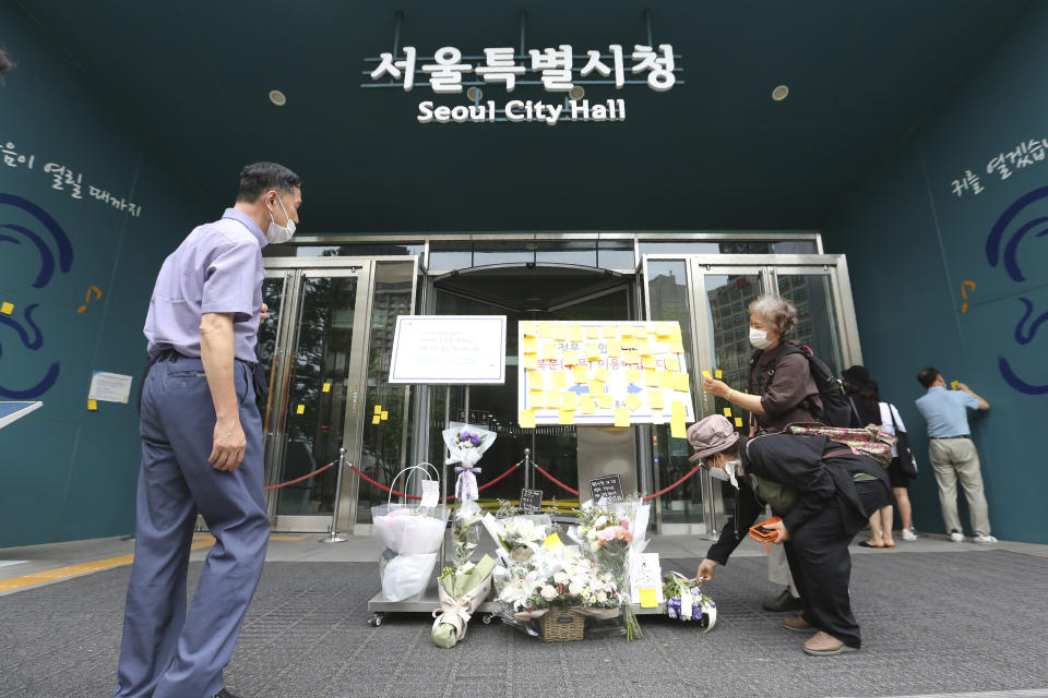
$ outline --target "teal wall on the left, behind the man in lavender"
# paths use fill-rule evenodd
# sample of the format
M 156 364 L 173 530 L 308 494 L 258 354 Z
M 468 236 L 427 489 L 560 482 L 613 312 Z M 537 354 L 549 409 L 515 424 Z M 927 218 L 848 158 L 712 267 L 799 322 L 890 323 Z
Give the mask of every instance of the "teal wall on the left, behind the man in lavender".
M 0 149 L 17 154 L 15 167 L 0 154 L 0 303 L 14 305 L 0 314 L 0 400 L 44 402 L 0 430 L 0 546 L 130 533 L 133 395 L 153 280 L 201 216 L 221 212 L 203 208 L 19 10 L 0 5 L 0 27 L 17 62 L 0 83 Z M 74 172 L 81 198 L 52 188 L 48 163 Z M 94 198 L 90 186 L 141 213 Z M 78 313 L 92 286 L 102 298 Z M 88 411 L 93 371 L 133 375 L 132 400 Z

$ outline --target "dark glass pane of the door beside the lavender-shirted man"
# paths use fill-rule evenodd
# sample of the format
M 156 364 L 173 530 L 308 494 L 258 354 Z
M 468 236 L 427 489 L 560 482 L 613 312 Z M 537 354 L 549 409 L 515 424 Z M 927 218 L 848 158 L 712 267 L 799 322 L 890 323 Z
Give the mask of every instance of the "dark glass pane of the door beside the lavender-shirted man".
M 282 482 L 338 458 L 353 349 L 356 277 L 303 278 L 297 337 L 288 359 Z M 326 386 L 326 390 L 324 387 Z M 277 515 L 331 513 L 335 469 L 279 490 Z

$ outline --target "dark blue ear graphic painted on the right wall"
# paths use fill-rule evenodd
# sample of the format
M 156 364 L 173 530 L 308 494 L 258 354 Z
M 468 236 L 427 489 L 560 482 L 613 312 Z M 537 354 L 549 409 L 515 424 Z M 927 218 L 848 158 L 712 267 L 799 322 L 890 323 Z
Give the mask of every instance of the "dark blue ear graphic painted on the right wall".
M 1020 267 L 1020 243 L 1027 233 L 1038 227 L 1040 228 L 1035 237 L 1041 238 L 1048 234 L 1048 225 L 1046 225 L 1048 224 L 1048 216 L 1031 217 L 1041 213 L 1048 214 L 1048 186 L 1035 189 L 1020 196 L 1004 209 L 1004 213 L 990 229 L 989 238 L 986 241 L 986 260 L 992 267 L 1002 264 L 1009 278 L 1013 281 L 1022 282 L 1026 280 L 1026 275 Z M 1013 222 L 1015 224 L 1014 230 L 1012 230 Z M 1005 234 L 1011 236 L 1007 241 L 1004 239 Z M 1031 317 L 1034 315 L 1034 302 L 1022 296 L 1017 300 L 1023 305 L 1024 312 L 1015 326 L 1014 340 L 1016 345 L 1024 346 L 1034 340 L 1041 324 L 1048 321 L 1048 313 L 1037 315 L 1031 323 Z M 998 357 L 997 363 L 1001 377 L 1013 389 L 1025 395 L 1048 395 L 1048 383 L 1036 384 L 1020 377 L 1003 356 Z

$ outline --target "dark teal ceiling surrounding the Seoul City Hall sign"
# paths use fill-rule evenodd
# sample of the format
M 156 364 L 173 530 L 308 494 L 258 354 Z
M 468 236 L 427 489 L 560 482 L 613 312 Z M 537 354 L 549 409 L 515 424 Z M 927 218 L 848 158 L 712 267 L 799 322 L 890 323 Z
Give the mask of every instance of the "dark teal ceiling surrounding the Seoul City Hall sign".
M 245 163 L 298 171 L 306 234 L 819 228 L 1028 3 L 16 2 L 216 207 Z M 396 10 L 402 46 L 476 56 L 520 46 L 521 10 L 527 48 L 631 47 L 646 43 L 648 8 L 683 84 L 587 87 L 624 98 L 624 122 L 420 124 L 428 87 L 360 86 L 364 59 L 392 48 Z M 286 106 L 270 104 L 273 88 Z

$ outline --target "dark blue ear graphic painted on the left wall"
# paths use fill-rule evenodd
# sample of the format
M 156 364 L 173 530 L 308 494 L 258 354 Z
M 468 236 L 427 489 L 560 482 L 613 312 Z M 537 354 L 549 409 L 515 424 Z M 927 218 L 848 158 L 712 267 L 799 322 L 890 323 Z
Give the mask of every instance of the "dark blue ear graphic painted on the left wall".
M 11 209 L 8 206 L 23 214 L 28 214 L 39 224 L 39 227 L 26 228 L 14 222 L 4 222 L 4 217 L 11 215 Z M 24 219 L 24 215 L 20 216 L 20 219 Z M 21 245 L 26 242 L 35 249 L 39 256 L 39 272 L 32 284 L 33 288 L 46 288 L 55 277 L 56 270 L 68 274 L 72 268 L 73 245 L 58 221 L 33 202 L 13 194 L 0 193 L 0 249 L 8 244 Z M 22 347 L 34 352 L 44 349 L 44 333 L 33 318 L 33 313 L 39 305 L 39 303 L 33 303 L 22 309 L 21 320 L 15 317 L 14 314 L 0 314 L 0 325 L 14 329 L 22 340 Z M 3 359 L 4 347 L 0 342 L 0 362 Z M 0 398 L 14 400 L 38 398 L 51 389 L 58 381 L 60 371 L 60 362 L 55 361 L 33 385 L 27 387 L 0 385 Z M 33 381 L 34 377 L 31 377 L 29 381 Z

